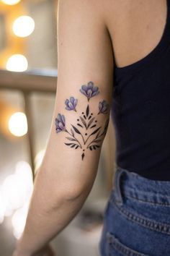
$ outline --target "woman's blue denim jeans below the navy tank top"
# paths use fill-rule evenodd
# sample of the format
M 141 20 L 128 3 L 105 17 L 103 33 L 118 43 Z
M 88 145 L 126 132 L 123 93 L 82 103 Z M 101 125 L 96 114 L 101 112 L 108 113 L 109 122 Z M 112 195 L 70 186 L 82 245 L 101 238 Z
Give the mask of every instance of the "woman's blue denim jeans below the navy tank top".
M 120 166 L 114 178 L 100 255 L 170 256 L 170 181 L 147 179 Z

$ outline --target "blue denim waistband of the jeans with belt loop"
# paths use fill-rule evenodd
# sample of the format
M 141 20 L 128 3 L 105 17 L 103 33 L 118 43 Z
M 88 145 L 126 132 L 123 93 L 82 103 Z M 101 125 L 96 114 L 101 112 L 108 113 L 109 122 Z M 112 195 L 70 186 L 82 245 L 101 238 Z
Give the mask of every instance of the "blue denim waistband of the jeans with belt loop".
M 128 169 L 115 166 L 113 186 L 115 199 L 120 205 L 123 204 L 124 197 L 170 205 L 170 181 L 148 179 Z

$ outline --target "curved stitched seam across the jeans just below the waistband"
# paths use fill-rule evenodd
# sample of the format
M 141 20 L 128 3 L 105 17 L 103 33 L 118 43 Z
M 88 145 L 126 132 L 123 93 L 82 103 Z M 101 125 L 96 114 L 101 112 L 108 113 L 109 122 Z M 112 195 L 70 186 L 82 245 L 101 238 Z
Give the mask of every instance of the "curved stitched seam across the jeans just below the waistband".
M 138 214 L 132 213 L 130 211 L 127 211 L 125 209 L 121 209 L 117 206 L 116 202 L 113 202 L 113 200 L 110 200 L 113 206 L 117 208 L 117 210 L 122 213 L 123 216 L 126 216 L 130 221 L 133 221 L 135 223 L 140 224 L 141 226 L 145 226 L 148 229 L 151 229 L 153 231 L 158 231 L 164 234 L 170 234 L 170 225 L 166 223 L 160 223 L 158 221 L 151 221 L 150 219 L 146 217 L 142 217 Z M 160 227 L 160 229 L 158 228 Z

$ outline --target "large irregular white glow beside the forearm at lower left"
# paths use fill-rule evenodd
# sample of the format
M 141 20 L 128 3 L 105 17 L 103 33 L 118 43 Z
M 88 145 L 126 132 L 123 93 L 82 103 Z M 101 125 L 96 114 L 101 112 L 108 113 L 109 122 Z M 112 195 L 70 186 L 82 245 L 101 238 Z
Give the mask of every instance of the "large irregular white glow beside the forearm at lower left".
M 12 216 L 13 234 L 17 239 L 24 230 L 32 192 L 30 164 L 19 161 L 14 173 L 6 176 L 0 187 L 0 223 L 4 221 L 4 216 Z

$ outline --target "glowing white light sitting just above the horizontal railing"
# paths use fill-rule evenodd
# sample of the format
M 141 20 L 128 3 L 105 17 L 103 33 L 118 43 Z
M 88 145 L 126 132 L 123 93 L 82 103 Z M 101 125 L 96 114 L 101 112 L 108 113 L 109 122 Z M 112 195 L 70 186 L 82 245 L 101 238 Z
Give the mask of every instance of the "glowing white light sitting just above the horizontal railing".
M 6 62 L 6 69 L 14 72 L 23 72 L 27 70 L 28 62 L 24 55 L 14 54 Z

